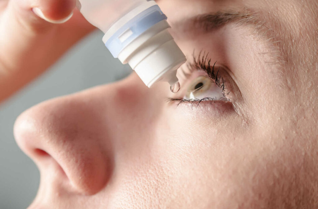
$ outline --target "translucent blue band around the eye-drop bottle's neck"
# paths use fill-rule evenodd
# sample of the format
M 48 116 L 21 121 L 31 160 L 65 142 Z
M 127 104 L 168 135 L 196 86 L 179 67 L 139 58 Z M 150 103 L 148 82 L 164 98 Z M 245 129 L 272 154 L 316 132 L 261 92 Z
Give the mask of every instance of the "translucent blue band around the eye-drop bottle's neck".
M 147 31 L 156 23 L 166 20 L 167 16 L 164 15 L 158 5 L 149 7 L 147 10 L 142 11 L 135 18 L 131 19 L 128 23 L 122 26 L 117 32 L 110 37 L 105 46 L 108 48 L 114 58 L 118 57 L 118 54 L 122 49 L 128 46 L 133 40 L 140 36 L 143 32 Z M 119 39 L 120 36 L 130 30 L 131 35 L 123 42 Z

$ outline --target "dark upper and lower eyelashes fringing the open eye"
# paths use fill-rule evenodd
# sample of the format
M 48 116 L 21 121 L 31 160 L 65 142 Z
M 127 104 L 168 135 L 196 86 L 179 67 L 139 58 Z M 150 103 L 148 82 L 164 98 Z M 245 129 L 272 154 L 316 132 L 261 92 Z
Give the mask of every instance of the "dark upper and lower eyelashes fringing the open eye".
M 211 66 L 211 58 L 208 58 L 209 53 L 203 53 L 200 52 L 198 54 L 198 57 L 195 57 L 193 53 L 193 63 L 188 64 L 188 68 L 191 71 L 194 70 L 203 70 L 210 78 L 211 82 L 215 83 L 222 91 L 223 96 L 225 97 L 226 95 L 229 94 L 229 92 L 226 92 L 225 90 L 225 81 L 223 79 L 223 76 L 218 76 L 220 74 L 220 68 L 218 68 L 217 72 L 215 71 L 215 65 L 217 63 L 214 62 L 213 66 Z M 216 73 L 215 73 L 216 72 Z M 225 101 L 229 101 L 228 99 L 224 99 Z M 174 101 L 179 101 L 177 106 L 179 106 L 182 103 L 190 102 L 191 103 L 191 108 L 196 104 L 197 106 L 200 105 L 201 102 L 207 102 L 210 101 L 215 102 L 217 101 L 217 98 L 211 98 L 211 97 L 206 97 L 203 99 L 183 99 L 183 98 L 169 98 L 168 102 L 174 102 Z

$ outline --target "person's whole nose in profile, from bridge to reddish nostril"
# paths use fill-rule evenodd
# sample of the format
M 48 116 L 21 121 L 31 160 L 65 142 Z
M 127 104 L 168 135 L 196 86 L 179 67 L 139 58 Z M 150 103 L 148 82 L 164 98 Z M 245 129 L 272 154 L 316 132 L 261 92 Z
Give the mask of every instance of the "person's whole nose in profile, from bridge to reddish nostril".
M 18 117 L 14 126 L 17 144 L 38 165 L 41 176 L 45 170 L 52 171 L 51 167 L 56 178 L 65 176 L 72 191 L 83 194 L 95 194 L 105 187 L 114 168 L 113 142 L 121 122 L 115 100 L 138 101 L 131 95 L 138 87 L 121 83 L 125 84 L 53 99 Z M 122 108 L 129 112 L 127 106 Z

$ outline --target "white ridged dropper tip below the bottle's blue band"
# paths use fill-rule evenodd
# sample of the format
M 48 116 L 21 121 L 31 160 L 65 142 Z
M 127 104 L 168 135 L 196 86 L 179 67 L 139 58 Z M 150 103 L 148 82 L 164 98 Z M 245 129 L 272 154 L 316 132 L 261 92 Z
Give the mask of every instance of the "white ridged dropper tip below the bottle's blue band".
M 150 88 L 158 81 L 170 85 L 178 82 L 177 69 L 186 61 L 169 31 L 169 24 L 163 20 L 125 47 L 118 55 Z

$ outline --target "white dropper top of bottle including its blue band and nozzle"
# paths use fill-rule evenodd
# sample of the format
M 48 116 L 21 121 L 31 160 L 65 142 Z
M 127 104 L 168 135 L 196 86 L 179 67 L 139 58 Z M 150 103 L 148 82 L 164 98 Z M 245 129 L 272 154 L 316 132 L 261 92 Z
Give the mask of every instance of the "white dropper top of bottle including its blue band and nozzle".
M 154 1 L 141 4 L 114 23 L 103 41 L 114 57 L 128 63 L 150 88 L 158 81 L 178 82 L 177 69 L 186 61 Z

